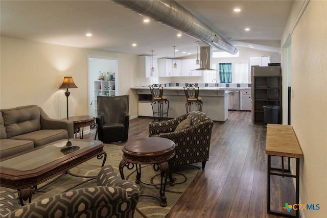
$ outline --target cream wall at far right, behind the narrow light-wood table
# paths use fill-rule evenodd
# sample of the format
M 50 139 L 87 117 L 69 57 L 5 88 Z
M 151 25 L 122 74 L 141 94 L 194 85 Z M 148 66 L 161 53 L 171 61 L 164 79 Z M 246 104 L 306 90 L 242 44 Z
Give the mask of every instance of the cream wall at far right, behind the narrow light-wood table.
M 293 3 L 290 23 L 302 3 Z M 327 213 L 326 11 L 327 1 L 310 1 L 291 35 L 291 125 L 304 155 L 300 203 L 320 204 L 320 210 L 301 210 L 305 218 L 326 217 Z M 285 40 L 288 34 L 286 28 Z

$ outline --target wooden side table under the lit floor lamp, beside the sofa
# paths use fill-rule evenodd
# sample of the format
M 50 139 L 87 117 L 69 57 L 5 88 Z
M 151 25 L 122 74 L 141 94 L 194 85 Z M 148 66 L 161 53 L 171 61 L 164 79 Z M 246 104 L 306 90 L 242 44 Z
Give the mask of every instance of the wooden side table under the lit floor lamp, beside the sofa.
M 63 119 L 73 121 L 75 138 L 77 138 L 77 133 L 79 133 L 80 139 L 83 139 L 84 127 L 90 127 L 90 129 L 97 128 L 97 132 L 98 132 L 98 125 L 95 122 L 96 118 L 94 116 L 87 116 L 87 115 L 69 116 L 68 119 L 67 118 L 63 118 Z M 81 131 L 81 128 L 82 128 L 82 131 Z M 82 135 L 81 135 L 81 132 L 82 132 Z M 96 133 L 96 137 L 94 138 L 94 140 L 96 140 L 96 138 L 97 138 L 97 133 Z

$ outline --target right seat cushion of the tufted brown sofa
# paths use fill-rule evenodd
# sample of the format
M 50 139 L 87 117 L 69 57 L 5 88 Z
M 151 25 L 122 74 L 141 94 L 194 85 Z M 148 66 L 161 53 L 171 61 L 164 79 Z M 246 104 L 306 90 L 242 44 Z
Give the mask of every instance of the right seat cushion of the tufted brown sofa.
M 67 139 L 68 133 L 66 130 L 38 130 L 22 135 L 17 135 L 11 139 L 16 140 L 31 140 L 34 141 L 34 147 L 43 146 L 57 140 Z

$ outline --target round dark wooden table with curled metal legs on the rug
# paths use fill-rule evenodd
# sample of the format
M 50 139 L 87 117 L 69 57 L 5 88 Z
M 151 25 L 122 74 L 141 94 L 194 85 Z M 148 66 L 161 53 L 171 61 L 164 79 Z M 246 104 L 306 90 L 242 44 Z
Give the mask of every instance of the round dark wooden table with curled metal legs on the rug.
M 128 169 L 136 167 L 136 183 L 147 185 L 159 185 L 149 184 L 141 181 L 141 164 L 153 164 L 155 171 L 160 171 L 160 190 L 159 196 L 141 195 L 156 198 L 160 201 L 161 207 L 167 206 L 167 198 L 165 196 L 166 184 L 174 185 L 174 180 L 170 171 L 170 159 L 175 156 L 175 143 L 167 138 L 160 137 L 148 137 L 137 140 L 129 140 L 124 144 L 123 148 L 123 160 L 119 165 L 119 171 L 122 179 L 125 179 L 123 168 L 126 166 Z M 167 178 L 169 175 L 169 183 Z

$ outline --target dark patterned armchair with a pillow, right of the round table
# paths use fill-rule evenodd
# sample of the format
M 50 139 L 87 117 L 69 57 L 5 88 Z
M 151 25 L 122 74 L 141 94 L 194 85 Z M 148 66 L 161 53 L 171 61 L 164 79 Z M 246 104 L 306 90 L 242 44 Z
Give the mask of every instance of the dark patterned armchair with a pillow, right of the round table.
M 149 124 L 149 136 L 169 138 L 176 144 L 172 165 L 209 160 L 211 132 L 214 122 L 203 112 L 194 111 L 177 118 Z

